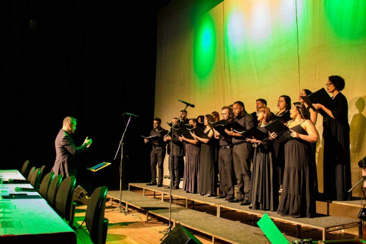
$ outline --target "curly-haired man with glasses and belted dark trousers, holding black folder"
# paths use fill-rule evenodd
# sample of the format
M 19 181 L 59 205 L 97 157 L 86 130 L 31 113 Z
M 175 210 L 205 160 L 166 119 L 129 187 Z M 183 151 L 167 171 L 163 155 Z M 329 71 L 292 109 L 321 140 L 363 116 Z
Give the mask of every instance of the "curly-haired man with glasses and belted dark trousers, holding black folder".
M 230 123 L 234 120 L 234 113 L 232 108 L 224 106 L 222 108 L 221 116 L 225 123 Z M 224 198 L 224 200 L 231 200 L 234 198 L 234 184 L 232 179 L 232 142 L 231 138 L 224 138 L 214 129 L 215 138 L 220 139 L 219 151 L 219 176 L 220 176 L 220 193 L 216 198 Z

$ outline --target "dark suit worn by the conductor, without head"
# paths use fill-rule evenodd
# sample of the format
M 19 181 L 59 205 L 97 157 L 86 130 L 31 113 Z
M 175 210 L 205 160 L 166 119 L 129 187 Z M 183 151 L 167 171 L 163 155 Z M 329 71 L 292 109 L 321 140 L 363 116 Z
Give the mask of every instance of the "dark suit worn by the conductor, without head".
M 74 140 L 64 129 L 60 129 L 55 140 L 56 160 L 53 165 L 55 175 L 62 174 L 63 177 L 76 176 L 75 156 L 83 153 L 87 149 L 87 144 L 84 143 L 76 147 Z

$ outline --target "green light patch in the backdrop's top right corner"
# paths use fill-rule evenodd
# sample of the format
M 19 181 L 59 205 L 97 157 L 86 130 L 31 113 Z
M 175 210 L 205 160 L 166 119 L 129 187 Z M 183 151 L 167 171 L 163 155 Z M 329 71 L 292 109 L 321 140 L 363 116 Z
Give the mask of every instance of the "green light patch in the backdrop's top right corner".
M 337 35 L 350 40 L 366 35 L 366 1 L 324 1 L 326 16 Z

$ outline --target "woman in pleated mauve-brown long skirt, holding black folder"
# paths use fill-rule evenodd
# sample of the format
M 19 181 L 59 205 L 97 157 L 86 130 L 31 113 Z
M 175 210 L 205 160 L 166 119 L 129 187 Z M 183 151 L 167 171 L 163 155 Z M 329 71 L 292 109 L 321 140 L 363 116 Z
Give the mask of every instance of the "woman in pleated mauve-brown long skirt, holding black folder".
M 197 127 L 197 119 L 190 119 L 192 128 Z M 199 168 L 199 141 L 179 136 L 181 142 L 186 144 L 186 162 L 184 164 L 183 190 L 190 193 L 198 191 L 198 168 Z

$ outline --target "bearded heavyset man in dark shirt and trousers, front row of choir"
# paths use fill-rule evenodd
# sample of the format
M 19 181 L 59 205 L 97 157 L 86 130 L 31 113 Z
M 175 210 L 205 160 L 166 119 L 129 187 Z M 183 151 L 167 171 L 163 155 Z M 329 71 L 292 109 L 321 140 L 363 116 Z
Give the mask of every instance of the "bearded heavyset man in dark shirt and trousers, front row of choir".
M 235 115 L 235 121 L 246 129 L 254 127 L 253 116 L 246 112 L 244 103 L 236 101 L 232 105 L 232 110 Z M 234 172 L 236 175 L 236 198 L 228 200 L 228 202 L 239 202 L 241 205 L 249 205 L 249 191 L 250 191 L 250 155 L 253 146 L 247 142 L 246 138 L 241 134 L 234 132 L 232 129 L 225 130 L 228 135 L 232 136 L 232 157 L 234 161 Z

